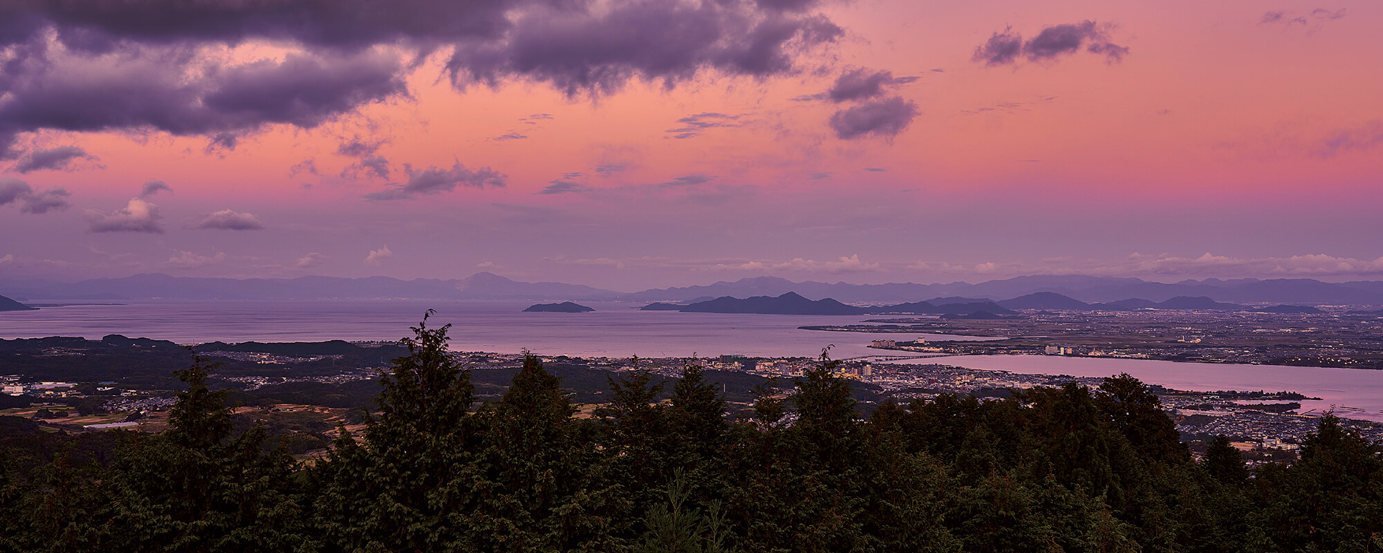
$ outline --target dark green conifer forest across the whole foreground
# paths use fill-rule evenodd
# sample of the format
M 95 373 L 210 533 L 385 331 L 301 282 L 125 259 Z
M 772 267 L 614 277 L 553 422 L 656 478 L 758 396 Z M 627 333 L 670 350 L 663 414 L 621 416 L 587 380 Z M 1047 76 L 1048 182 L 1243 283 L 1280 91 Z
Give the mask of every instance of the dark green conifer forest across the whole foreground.
M 448 329 L 425 317 L 319 458 L 236 427 L 205 359 L 160 434 L 0 418 L 0 552 L 1383 550 L 1380 444 L 1333 415 L 1250 470 L 1224 437 L 1194 459 L 1127 375 L 866 418 L 823 353 L 744 416 L 693 362 L 577 418 L 532 355 L 476 401 Z

